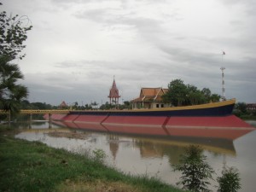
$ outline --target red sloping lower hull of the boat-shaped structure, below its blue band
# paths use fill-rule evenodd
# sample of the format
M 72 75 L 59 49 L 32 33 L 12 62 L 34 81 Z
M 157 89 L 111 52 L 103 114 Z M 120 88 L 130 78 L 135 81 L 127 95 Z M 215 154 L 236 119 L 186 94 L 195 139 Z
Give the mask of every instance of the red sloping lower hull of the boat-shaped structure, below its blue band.
M 67 115 L 68 117 L 68 115 Z M 54 118 L 54 116 L 53 116 Z M 235 140 L 254 131 L 235 115 L 224 117 L 122 117 L 79 115 L 58 119 L 70 128 L 152 137 L 211 137 Z

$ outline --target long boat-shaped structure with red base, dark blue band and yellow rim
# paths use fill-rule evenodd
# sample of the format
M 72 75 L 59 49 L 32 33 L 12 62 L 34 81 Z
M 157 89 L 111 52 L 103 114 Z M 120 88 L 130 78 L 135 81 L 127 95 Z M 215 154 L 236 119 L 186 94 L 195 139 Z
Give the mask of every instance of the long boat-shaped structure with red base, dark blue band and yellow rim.
M 232 114 L 235 103 L 232 99 L 175 108 L 70 111 L 51 118 L 72 128 L 94 131 L 234 140 L 255 129 Z

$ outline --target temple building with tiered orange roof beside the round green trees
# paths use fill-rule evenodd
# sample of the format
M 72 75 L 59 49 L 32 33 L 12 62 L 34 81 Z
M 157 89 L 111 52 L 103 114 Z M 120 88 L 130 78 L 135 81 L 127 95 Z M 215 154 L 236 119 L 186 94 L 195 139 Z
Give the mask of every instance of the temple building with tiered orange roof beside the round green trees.
M 142 88 L 140 96 L 131 100 L 132 108 L 166 108 L 170 104 L 162 102 L 162 97 L 168 89 Z

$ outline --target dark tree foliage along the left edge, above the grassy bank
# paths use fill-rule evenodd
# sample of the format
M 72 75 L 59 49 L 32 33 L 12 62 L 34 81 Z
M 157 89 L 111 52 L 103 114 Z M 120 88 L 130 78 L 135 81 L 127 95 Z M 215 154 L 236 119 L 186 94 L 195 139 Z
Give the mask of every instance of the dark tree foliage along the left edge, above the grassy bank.
M 32 29 L 29 23 L 26 16 L 0 13 L 0 109 L 11 112 L 18 111 L 21 100 L 28 95 L 27 88 L 18 84 L 24 78 L 20 67 L 10 61 L 25 56 L 21 52 L 26 47 L 26 33 Z

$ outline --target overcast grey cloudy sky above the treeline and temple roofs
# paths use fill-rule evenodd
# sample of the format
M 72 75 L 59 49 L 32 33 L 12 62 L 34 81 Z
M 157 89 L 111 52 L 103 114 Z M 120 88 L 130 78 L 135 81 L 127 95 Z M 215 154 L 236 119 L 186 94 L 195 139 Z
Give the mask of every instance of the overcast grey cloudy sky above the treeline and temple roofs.
M 173 79 L 256 102 L 254 0 L 1 0 L 27 15 L 25 75 L 30 102 L 122 101 Z M 222 55 L 223 51 L 225 55 Z

